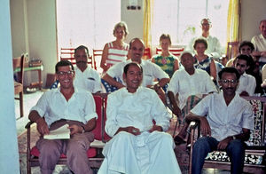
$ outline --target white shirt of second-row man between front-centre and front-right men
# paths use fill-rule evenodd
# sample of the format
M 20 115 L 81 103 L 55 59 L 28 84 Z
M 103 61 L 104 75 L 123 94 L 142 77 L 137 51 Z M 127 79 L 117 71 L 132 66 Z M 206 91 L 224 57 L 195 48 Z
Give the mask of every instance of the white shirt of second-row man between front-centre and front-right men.
M 206 71 L 195 69 L 195 73 L 189 75 L 183 68 L 178 69 L 172 76 L 168 91 L 175 95 L 178 92 L 179 107 L 183 109 L 189 96 L 207 94 L 216 91 L 216 88 Z

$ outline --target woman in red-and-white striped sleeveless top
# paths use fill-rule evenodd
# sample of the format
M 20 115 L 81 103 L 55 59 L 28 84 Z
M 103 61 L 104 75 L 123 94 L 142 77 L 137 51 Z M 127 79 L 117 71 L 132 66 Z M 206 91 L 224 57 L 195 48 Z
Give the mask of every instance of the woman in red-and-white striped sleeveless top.
M 128 34 L 129 30 L 125 22 L 121 21 L 114 26 L 113 36 L 116 37 L 116 40 L 105 45 L 100 63 L 103 72 L 106 72 L 115 63 L 128 59 L 129 44 L 124 43 Z

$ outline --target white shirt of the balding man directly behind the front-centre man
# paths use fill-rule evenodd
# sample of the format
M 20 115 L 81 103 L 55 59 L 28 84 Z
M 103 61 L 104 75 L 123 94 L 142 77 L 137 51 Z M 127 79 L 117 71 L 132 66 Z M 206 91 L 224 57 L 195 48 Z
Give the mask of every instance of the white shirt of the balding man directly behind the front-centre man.
M 132 62 L 131 59 L 128 59 L 126 62 L 117 63 L 113 67 L 110 67 L 106 73 L 112 77 L 119 77 L 122 80 L 124 67 L 130 62 Z M 153 85 L 154 78 L 169 78 L 168 74 L 151 61 L 142 59 L 140 65 L 143 68 L 142 86 Z M 125 84 L 124 82 L 122 83 Z

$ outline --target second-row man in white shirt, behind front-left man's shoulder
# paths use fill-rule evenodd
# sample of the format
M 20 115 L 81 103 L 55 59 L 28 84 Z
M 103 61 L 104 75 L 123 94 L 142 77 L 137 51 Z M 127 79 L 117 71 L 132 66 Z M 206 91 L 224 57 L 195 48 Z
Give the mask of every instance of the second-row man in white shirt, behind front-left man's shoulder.
M 88 66 L 88 48 L 81 45 L 74 49 L 74 59 L 76 62 L 76 67 L 74 67 L 74 86 L 82 88 L 85 91 L 90 91 L 91 93 L 102 91 L 98 72 Z

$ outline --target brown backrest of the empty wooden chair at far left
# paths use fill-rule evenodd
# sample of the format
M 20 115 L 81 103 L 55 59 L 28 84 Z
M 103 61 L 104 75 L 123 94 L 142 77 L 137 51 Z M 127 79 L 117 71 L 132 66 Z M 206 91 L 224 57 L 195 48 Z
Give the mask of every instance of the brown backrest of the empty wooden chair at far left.
M 25 64 L 25 59 L 27 57 L 27 54 L 22 54 L 18 58 L 14 58 L 13 60 L 13 70 L 20 68 L 20 71 L 17 73 L 17 79 L 16 81 L 18 83 L 21 83 L 23 85 L 23 77 L 24 77 L 24 64 Z

